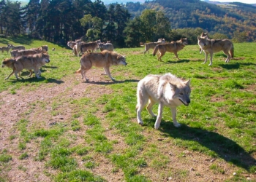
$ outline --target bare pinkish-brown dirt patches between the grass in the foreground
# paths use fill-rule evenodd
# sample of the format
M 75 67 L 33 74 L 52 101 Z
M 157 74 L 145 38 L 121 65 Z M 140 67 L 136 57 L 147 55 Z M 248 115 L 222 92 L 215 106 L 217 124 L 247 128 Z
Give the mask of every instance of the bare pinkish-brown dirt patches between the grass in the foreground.
M 89 71 L 89 78 L 94 77 L 94 81 L 111 82 L 107 76 L 100 76 L 99 72 L 102 69 L 93 68 Z M 27 87 L 23 87 L 17 90 L 16 94 L 12 95 L 8 91 L 1 92 L 0 98 L 0 110 L 1 110 L 1 122 L 0 122 L 0 150 L 7 149 L 8 154 L 12 156 L 10 161 L 10 170 L 5 170 L 4 174 L 7 176 L 9 181 L 52 181 L 52 179 L 45 175 L 47 173 L 56 174 L 58 171 L 53 170 L 49 167 L 45 167 L 45 160 L 42 162 L 35 161 L 34 157 L 38 154 L 39 141 L 32 141 L 27 143 L 26 151 L 29 154 L 27 159 L 19 159 L 22 152 L 18 149 L 19 138 L 10 140 L 12 135 L 19 135 L 17 124 L 20 119 L 28 119 L 29 126 L 36 126 L 38 128 L 49 128 L 53 122 L 61 123 L 70 121 L 73 113 L 72 108 L 68 103 L 62 103 L 59 106 L 59 114 L 52 116 L 50 114 L 51 106 L 54 101 L 65 98 L 97 98 L 104 94 L 108 94 L 110 90 L 105 87 L 105 84 L 89 84 L 80 81 L 80 74 L 74 76 L 65 77 L 61 84 L 48 83 L 42 84 L 37 90 L 29 91 Z M 90 90 L 90 92 L 86 92 Z M 37 101 L 43 101 L 47 103 L 46 109 L 42 109 L 37 106 Z M 106 128 L 105 136 L 110 141 L 118 141 L 114 144 L 114 151 L 122 151 L 126 149 L 126 143 L 121 135 L 116 135 L 113 131 L 108 130 L 108 122 L 106 122 L 104 114 L 98 111 L 96 114 L 102 122 L 102 126 Z M 81 119 L 80 119 L 81 120 Z M 136 122 L 135 119 L 132 122 Z M 82 130 L 79 131 L 68 131 L 67 134 L 75 134 L 77 136 L 72 146 L 86 145 L 84 140 L 85 131 L 87 127 L 83 124 Z M 29 127 L 28 126 L 28 127 Z M 148 143 L 157 143 L 161 155 L 170 159 L 165 169 L 154 169 L 150 167 L 143 167 L 140 170 L 140 174 L 146 175 L 151 181 L 225 181 L 233 178 L 233 173 L 238 170 L 238 167 L 227 163 L 224 159 L 213 159 L 200 154 L 195 151 L 187 151 L 176 146 L 171 138 L 165 138 L 161 132 L 157 130 L 144 130 L 143 135 L 148 138 Z M 38 139 L 39 140 L 39 139 Z M 184 153 L 182 157 L 179 157 L 181 153 Z M 83 162 L 79 156 L 78 159 L 79 167 L 83 167 Z M 47 159 L 46 159 L 47 160 Z M 109 161 L 109 159 L 103 157 L 101 154 L 94 156 L 94 160 L 99 163 L 99 166 L 91 169 L 91 173 L 100 175 L 107 181 L 124 181 L 124 173 L 119 169 L 116 173 L 113 173 L 115 166 Z M 151 162 L 152 159 L 146 159 Z M 225 170 L 225 173 L 217 173 L 209 169 L 211 165 L 217 165 L 218 167 Z M 26 168 L 25 171 L 20 170 L 20 166 Z M 89 170 L 89 169 L 86 169 Z M 181 173 L 187 170 L 189 174 L 184 175 L 182 178 Z M 159 175 L 160 173 L 166 172 L 166 175 Z M 172 175 L 170 176 L 170 171 Z M 248 181 L 256 181 L 256 176 L 243 173 L 244 178 Z

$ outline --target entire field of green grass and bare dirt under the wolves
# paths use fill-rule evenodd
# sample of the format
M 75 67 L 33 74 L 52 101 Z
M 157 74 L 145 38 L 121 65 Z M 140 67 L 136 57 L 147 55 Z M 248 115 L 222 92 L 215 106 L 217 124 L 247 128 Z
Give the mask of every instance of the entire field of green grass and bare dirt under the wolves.
M 116 82 L 93 68 L 92 83 L 75 74 L 79 58 L 66 47 L 0 39 L 0 47 L 10 43 L 48 44 L 50 63 L 42 79 L 26 78 L 24 71 L 21 80 L 4 80 L 11 70 L 1 68 L 0 181 L 13 181 L 13 171 L 20 181 L 256 181 L 255 43 L 234 44 L 230 63 L 222 52 L 215 54 L 212 66 L 202 64 L 197 45 L 178 52 L 181 60 L 166 53 L 163 62 L 143 55 L 143 47 L 116 49 L 128 65 L 110 68 Z M 1 60 L 9 57 L 0 53 Z M 140 126 L 138 81 L 169 72 L 191 79 L 191 103 L 177 109 L 181 127 L 173 126 L 168 108 L 159 130 L 146 109 Z M 19 102 L 12 105 L 12 98 Z

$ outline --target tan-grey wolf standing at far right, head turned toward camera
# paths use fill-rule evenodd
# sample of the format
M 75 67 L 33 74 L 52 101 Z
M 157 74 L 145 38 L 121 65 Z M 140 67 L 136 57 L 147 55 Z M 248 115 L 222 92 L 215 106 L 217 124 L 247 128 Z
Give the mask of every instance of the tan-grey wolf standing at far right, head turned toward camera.
M 232 41 L 228 39 L 208 39 L 207 36 L 197 36 L 197 44 L 202 48 L 203 52 L 205 52 L 204 64 L 210 54 L 211 58 L 208 66 L 212 65 L 212 57 L 216 52 L 223 51 L 224 54 L 227 55 L 226 63 L 230 62 L 231 58 L 234 57 L 234 46 Z

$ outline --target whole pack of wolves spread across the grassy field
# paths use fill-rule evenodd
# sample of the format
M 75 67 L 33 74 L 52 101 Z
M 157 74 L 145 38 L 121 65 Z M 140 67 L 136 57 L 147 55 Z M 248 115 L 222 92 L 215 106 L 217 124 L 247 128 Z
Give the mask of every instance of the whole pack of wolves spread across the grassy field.
M 140 43 L 140 46 L 145 47 L 143 54 L 149 50 L 153 50 L 152 55 L 157 55 L 157 60 L 162 61 L 162 57 L 166 52 L 173 52 L 174 58 L 178 58 L 178 52 L 183 50 L 188 44 L 187 38 L 181 38 L 178 41 L 167 42 L 165 39 L 158 39 L 156 42 L 146 44 Z M 210 55 L 210 63 L 212 65 L 213 55 L 216 52 L 224 52 L 227 55 L 226 63 L 230 62 L 234 56 L 234 47 L 232 41 L 228 39 L 210 39 L 208 33 L 201 33 L 197 36 L 197 44 L 200 47 L 200 53 L 203 51 L 207 62 Z M 127 61 L 124 55 L 115 52 L 113 44 L 110 41 L 106 43 L 97 41 L 84 42 L 81 39 L 68 41 L 67 46 L 72 49 L 72 55 L 80 57 L 80 68 L 75 71 L 80 73 L 82 81 L 89 82 L 86 73 L 94 66 L 103 68 L 105 74 L 110 77 L 113 82 L 115 79 L 110 74 L 111 66 L 127 66 Z M 1 52 L 9 52 L 11 58 L 5 58 L 2 61 L 1 67 L 11 68 L 12 72 L 5 78 L 9 79 L 12 74 L 15 74 L 16 79 L 20 79 L 20 72 L 23 69 L 29 70 L 29 77 L 33 74 L 37 79 L 41 76 L 40 68 L 50 62 L 48 55 L 48 46 L 32 48 L 26 50 L 24 46 L 14 46 L 8 44 L 7 47 L 0 47 Z M 52 49 L 53 51 L 55 48 Z M 138 82 L 137 87 L 137 121 L 138 124 L 143 124 L 141 119 L 141 111 L 146 106 L 148 114 L 157 117 L 154 128 L 158 129 L 162 120 L 162 111 L 164 106 L 170 108 L 175 127 L 180 127 L 181 124 L 176 119 L 176 108 L 184 105 L 189 106 L 190 103 L 190 79 L 184 81 L 173 74 L 167 73 L 163 75 L 149 74 Z M 152 111 L 154 104 L 158 103 L 158 114 L 155 115 Z

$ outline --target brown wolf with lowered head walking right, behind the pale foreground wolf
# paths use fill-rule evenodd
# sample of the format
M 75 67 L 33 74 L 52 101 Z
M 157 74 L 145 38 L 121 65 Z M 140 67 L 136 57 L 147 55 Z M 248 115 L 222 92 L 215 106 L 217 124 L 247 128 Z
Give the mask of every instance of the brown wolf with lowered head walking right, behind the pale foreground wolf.
M 118 66 L 118 65 L 127 65 L 126 59 L 123 55 L 119 55 L 117 52 L 103 50 L 102 52 L 90 52 L 88 54 L 84 54 L 80 58 L 80 68 L 76 73 L 81 73 L 82 79 L 89 79 L 86 77 L 86 72 L 91 69 L 92 66 L 98 68 L 104 68 L 106 74 L 115 81 L 115 79 L 110 74 L 110 66 Z

